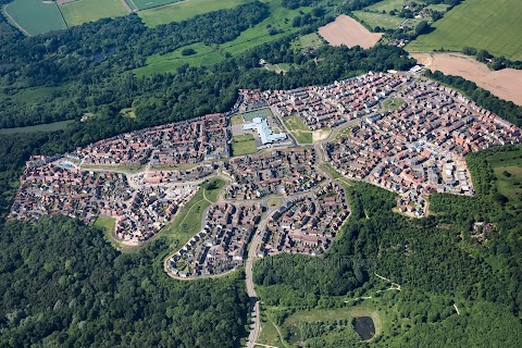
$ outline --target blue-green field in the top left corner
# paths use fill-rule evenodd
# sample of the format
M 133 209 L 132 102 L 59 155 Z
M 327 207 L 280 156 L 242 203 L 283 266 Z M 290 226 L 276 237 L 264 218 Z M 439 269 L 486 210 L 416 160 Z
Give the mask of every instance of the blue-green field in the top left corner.
M 26 35 L 38 35 L 67 27 L 55 2 L 14 0 L 4 7 L 4 13 L 8 20 Z

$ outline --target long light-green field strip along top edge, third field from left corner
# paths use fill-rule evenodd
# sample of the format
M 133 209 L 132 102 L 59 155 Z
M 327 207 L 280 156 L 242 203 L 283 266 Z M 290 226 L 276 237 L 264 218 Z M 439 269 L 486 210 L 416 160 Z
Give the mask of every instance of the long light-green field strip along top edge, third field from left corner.
M 241 3 L 251 1 L 252 0 L 186 0 L 158 9 L 140 11 L 138 15 L 144 20 L 147 26 L 153 27 L 171 22 L 182 22 L 194 17 L 197 14 L 223 9 L 233 9 Z

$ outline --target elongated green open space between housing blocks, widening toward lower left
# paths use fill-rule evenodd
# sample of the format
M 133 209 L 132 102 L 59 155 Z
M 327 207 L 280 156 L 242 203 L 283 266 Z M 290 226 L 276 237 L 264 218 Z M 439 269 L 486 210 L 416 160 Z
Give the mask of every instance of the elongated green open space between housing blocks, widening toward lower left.
M 201 229 L 204 210 L 217 201 L 217 196 L 225 184 L 221 178 L 211 178 L 203 183 L 174 220 L 161 231 L 161 236 L 167 238 L 171 246 L 184 245 Z

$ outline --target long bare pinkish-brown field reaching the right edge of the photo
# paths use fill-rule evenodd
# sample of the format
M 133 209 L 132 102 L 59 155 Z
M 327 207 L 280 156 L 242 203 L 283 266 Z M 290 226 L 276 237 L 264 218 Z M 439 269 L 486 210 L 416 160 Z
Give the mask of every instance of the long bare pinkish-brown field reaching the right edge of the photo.
M 432 71 L 462 76 L 495 96 L 522 105 L 522 71 L 502 69 L 492 71 L 473 58 L 459 53 L 412 53 L 419 63 Z

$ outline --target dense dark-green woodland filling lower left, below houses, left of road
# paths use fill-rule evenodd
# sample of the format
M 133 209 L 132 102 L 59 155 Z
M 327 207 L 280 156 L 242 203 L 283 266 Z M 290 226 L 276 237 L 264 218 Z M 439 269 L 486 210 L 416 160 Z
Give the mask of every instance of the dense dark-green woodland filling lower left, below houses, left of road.
M 161 240 L 122 254 L 57 217 L 0 225 L 0 347 L 236 347 L 245 335 L 241 273 L 175 282 Z

